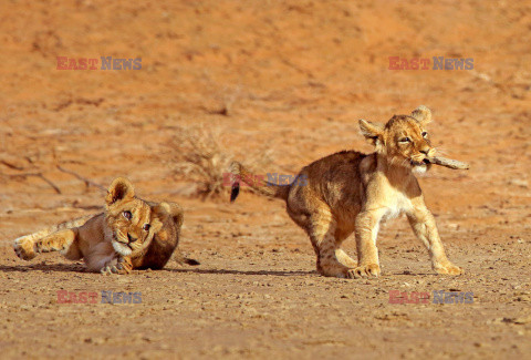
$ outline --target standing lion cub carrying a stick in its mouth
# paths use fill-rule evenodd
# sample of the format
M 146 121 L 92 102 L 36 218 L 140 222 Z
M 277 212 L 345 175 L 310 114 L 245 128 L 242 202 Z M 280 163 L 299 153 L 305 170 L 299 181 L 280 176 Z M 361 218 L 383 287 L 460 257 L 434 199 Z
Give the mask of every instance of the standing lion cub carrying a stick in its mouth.
M 363 135 L 376 148 L 374 153 L 344 151 L 323 157 L 302 168 L 298 178 L 304 182 L 291 185 L 267 183 L 232 163 L 231 172 L 237 176 L 231 200 L 238 196 L 240 179 L 264 195 L 284 199 L 290 217 L 310 236 L 317 271 L 325 276 L 378 276 L 379 223 L 403 213 L 428 249 L 433 268 L 439 274 L 462 274 L 446 257 L 414 175 L 431 165 L 435 148 L 425 131 L 430 120 L 426 106 L 412 115 L 394 115 L 385 125 L 360 120 Z M 341 249 L 341 243 L 353 232 L 357 261 Z

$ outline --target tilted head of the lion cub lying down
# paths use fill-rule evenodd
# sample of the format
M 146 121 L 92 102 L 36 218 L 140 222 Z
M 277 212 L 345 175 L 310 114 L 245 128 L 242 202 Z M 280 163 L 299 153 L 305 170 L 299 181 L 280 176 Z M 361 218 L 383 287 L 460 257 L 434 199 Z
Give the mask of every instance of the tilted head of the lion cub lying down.
M 131 182 L 124 177 L 113 181 L 105 197 L 105 223 L 116 253 L 134 256 L 147 248 L 163 223 L 157 212 L 135 197 Z

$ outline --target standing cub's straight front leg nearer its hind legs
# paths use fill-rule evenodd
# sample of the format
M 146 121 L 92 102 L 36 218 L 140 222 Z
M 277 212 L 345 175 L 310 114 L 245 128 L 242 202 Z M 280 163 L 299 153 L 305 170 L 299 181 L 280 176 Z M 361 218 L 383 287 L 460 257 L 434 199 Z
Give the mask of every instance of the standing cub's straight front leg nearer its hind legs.
M 357 267 L 350 270 L 350 277 L 379 276 L 378 249 L 376 236 L 383 210 L 365 210 L 356 216 Z

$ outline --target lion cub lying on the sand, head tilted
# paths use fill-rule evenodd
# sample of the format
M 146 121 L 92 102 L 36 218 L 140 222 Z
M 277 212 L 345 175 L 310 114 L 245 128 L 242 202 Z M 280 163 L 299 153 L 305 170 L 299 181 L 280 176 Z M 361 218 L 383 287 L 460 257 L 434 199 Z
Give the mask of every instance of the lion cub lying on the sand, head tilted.
M 83 258 L 90 270 L 102 274 L 162 269 L 174 250 L 179 263 L 199 264 L 177 249 L 183 225 L 179 205 L 144 202 L 123 177 L 111 184 L 105 203 L 105 212 L 90 219 L 19 237 L 14 251 L 24 260 L 34 258 L 35 253 L 62 251 L 71 260 Z

